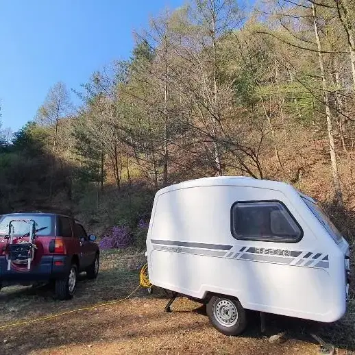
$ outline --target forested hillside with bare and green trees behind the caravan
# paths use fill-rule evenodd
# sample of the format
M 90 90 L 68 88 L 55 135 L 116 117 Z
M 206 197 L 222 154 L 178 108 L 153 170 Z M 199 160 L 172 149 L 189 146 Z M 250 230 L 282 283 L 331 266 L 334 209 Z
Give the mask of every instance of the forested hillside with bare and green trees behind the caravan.
M 1 131 L 0 212 L 125 226 L 139 245 L 158 188 L 246 175 L 290 182 L 354 234 L 353 0 L 191 0 L 135 40 L 129 60 L 78 92 L 54 84 L 33 121 Z

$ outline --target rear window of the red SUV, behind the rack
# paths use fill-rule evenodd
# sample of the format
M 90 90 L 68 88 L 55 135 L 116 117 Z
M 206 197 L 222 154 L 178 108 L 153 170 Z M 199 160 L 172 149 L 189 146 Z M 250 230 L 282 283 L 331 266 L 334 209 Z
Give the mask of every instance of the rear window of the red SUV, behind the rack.
M 3 215 L 0 219 L 0 235 L 9 234 L 9 223 L 14 220 L 33 219 L 36 222 L 36 236 L 49 236 L 53 234 L 53 217 L 45 215 Z M 29 232 L 30 223 L 21 221 L 12 222 L 14 236 L 23 236 Z

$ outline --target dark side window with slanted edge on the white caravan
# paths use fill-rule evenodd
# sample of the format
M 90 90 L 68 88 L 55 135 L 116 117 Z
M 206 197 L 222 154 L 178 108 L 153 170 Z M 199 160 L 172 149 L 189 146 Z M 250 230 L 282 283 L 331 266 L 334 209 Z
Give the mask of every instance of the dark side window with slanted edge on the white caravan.
M 249 241 L 297 243 L 302 228 L 280 201 L 241 201 L 232 206 L 232 235 Z

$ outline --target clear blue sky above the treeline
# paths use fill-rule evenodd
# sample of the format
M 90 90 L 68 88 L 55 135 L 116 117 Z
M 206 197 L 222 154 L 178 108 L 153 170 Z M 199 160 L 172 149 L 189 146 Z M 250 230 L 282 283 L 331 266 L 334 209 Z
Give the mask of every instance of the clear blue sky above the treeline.
M 78 89 L 93 71 L 130 56 L 133 30 L 182 0 L 0 0 L 3 127 L 34 118 L 50 86 Z

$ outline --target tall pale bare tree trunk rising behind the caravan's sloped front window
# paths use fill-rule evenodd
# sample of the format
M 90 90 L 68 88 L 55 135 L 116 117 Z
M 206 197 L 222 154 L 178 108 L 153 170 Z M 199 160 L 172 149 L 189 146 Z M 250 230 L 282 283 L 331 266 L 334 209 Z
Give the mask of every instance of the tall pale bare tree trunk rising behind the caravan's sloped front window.
M 315 26 L 315 38 L 317 41 L 317 48 L 318 48 L 319 68 L 321 70 L 321 82 L 322 82 L 322 88 L 323 88 L 323 103 L 324 103 L 324 106 L 326 107 L 326 119 L 327 119 L 328 138 L 329 138 L 329 147 L 330 147 L 330 161 L 331 161 L 331 165 L 332 165 L 332 175 L 333 175 L 335 197 L 336 197 L 336 202 L 338 203 L 338 205 L 342 207 L 343 206 L 343 195 L 341 193 L 338 164 L 336 161 L 336 149 L 335 149 L 335 145 L 334 145 L 332 117 L 330 114 L 329 94 L 328 94 L 328 90 L 327 90 L 326 73 L 324 70 L 323 55 L 321 53 L 322 49 L 321 49 L 321 39 L 319 38 L 317 10 L 316 10 L 314 3 L 312 3 L 312 14 L 313 14 L 313 24 Z

